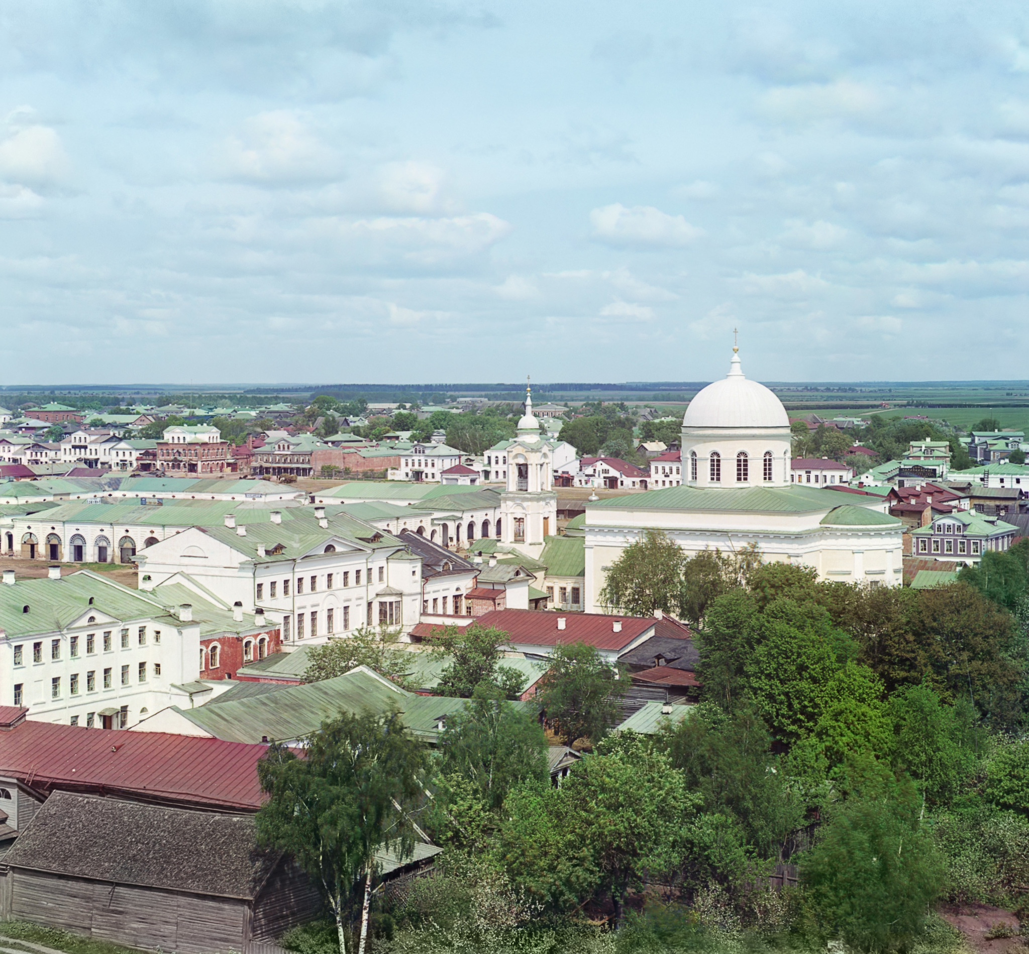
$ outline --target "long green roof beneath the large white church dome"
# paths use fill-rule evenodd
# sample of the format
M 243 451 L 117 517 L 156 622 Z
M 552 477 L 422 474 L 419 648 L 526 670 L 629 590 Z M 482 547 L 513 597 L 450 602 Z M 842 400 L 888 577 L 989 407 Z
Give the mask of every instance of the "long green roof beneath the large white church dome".
M 747 513 L 817 513 L 837 506 L 835 490 L 814 487 L 664 487 L 604 501 L 587 501 L 587 514 L 604 509 L 616 510 L 707 510 Z M 591 523 L 594 521 L 590 521 Z

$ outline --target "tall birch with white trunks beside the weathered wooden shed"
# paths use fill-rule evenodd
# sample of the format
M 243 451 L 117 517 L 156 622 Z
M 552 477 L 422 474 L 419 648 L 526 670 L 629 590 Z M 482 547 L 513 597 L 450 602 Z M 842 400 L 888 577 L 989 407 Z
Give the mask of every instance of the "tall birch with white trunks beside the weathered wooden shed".
M 424 760 L 398 714 L 344 714 L 308 739 L 305 758 L 273 743 L 257 765 L 269 796 L 257 812 L 258 840 L 292 855 L 321 886 L 341 954 L 358 910 L 364 954 L 376 851 L 411 856 Z

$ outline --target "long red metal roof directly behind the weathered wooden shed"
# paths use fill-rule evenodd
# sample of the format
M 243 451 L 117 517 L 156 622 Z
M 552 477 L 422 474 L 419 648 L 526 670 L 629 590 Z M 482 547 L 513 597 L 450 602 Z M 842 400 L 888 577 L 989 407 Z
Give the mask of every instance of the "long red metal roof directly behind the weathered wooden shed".
M 267 745 L 27 720 L 0 732 L 0 775 L 49 793 L 120 794 L 181 807 L 256 811 Z

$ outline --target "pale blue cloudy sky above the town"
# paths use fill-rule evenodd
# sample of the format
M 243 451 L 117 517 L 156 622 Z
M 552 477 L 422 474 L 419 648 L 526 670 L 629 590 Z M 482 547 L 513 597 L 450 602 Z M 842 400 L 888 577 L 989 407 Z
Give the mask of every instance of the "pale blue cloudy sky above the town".
M 0 383 L 1025 378 L 1029 7 L 4 0 Z

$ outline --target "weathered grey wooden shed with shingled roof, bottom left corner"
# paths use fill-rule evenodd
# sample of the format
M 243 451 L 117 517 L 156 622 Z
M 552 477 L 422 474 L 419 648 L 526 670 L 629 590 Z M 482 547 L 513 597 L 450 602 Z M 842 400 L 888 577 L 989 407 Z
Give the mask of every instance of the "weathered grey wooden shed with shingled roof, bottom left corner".
M 55 792 L 3 858 L 2 914 L 178 954 L 256 952 L 321 900 L 254 837 L 252 815 Z

